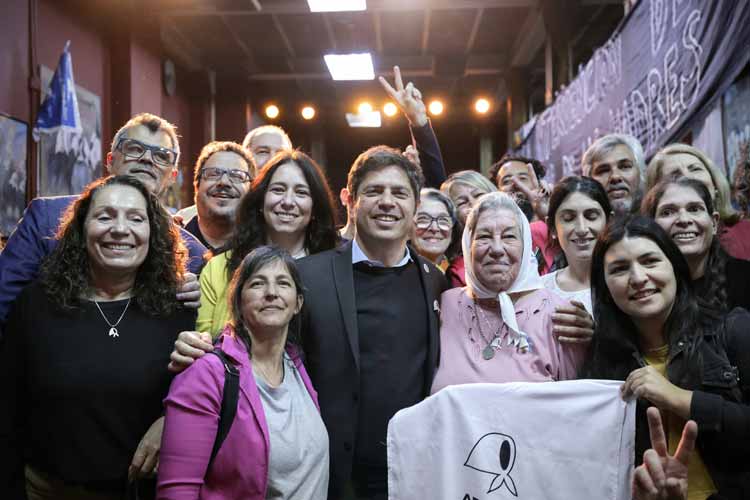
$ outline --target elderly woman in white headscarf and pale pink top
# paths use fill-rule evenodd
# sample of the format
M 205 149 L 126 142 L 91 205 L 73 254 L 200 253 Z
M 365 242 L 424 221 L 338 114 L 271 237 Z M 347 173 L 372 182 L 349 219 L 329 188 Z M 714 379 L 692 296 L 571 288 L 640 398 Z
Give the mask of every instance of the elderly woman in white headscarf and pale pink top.
M 553 335 L 555 308 L 566 302 L 544 287 L 528 220 L 513 199 L 497 192 L 479 198 L 462 248 L 466 286 L 441 297 L 432 393 L 454 384 L 575 378 L 584 348 Z

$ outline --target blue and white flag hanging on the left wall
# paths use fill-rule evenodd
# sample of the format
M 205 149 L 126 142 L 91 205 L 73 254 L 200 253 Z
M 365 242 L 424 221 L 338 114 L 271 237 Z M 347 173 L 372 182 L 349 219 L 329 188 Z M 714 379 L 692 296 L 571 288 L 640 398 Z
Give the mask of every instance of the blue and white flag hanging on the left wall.
M 76 152 L 83 132 L 69 49 L 70 41 L 65 44 L 60 55 L 33 131 L 34 140 L 37 142 L 41 134 L 54 136 L 55 153 Z

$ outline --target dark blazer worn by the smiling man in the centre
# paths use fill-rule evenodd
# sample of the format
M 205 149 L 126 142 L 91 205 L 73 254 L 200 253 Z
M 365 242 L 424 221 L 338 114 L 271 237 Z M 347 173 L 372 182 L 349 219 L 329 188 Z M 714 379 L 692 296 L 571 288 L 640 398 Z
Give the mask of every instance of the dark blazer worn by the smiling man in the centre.
M 424 396 L 429 395 L 440 353 L 438 301 L 448 288 L 443 273 L 410 253 L 419 268 L 429 316 L 429 345 Z M 298 262 L 305 286 L 302 310 L 302 345 L 305 367 L 313 386 L 330 440 L 329 500 L 341 497 L 352 471 L 359 412 L 359 336 L 354 303 L 352 243 L 311 255 Z

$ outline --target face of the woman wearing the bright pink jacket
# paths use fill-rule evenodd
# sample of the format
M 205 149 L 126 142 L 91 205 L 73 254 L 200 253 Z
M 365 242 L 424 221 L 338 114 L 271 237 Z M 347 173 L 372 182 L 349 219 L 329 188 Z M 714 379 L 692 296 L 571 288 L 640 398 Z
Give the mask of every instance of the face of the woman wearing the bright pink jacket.
M 302 296 L 280 260 L 251 274 L 241 293 L 242 318 L 251 332 L 284 329 L 302 308 Z

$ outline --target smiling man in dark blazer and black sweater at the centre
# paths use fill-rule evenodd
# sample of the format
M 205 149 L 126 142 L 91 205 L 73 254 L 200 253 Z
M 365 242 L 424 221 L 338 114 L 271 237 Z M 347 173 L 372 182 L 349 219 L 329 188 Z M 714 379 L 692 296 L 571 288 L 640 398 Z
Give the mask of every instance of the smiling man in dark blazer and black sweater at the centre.
M 330 439 L 329 499 L 388 497 L 386 433 L 400 409 L 424 399 L 438 363 L 439 298 L 448 283 L 409 249 L 421 173 L 376 146 L 349 171 L 355 237 L 299 261 L 305 284 L 305 365 Z M 183 332 L 172 369 L 211 350 Z

